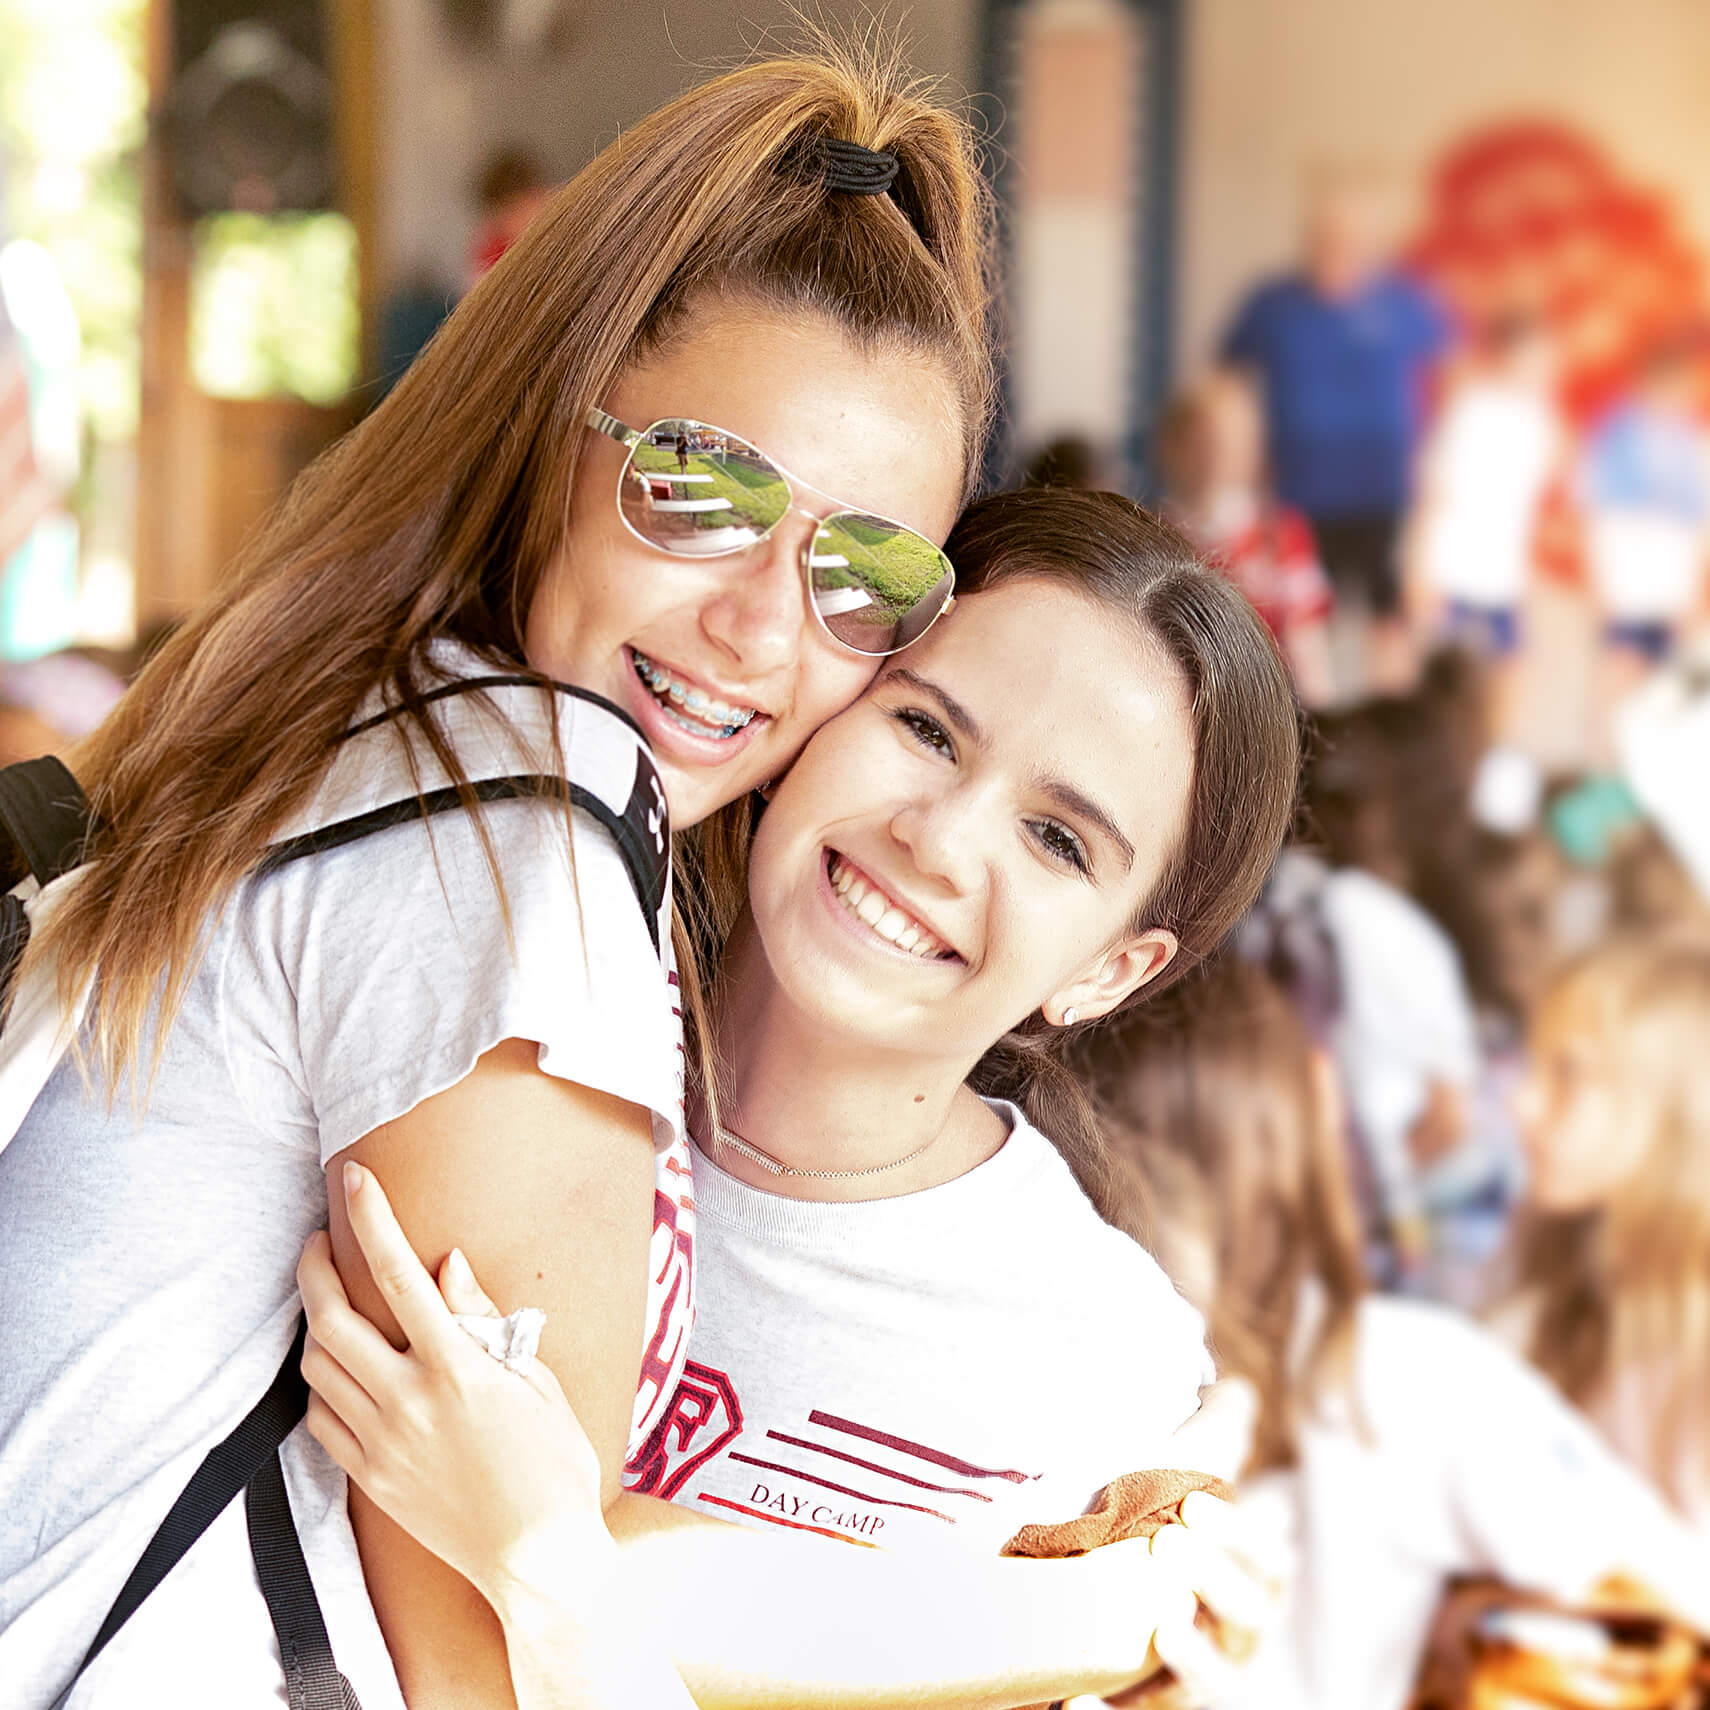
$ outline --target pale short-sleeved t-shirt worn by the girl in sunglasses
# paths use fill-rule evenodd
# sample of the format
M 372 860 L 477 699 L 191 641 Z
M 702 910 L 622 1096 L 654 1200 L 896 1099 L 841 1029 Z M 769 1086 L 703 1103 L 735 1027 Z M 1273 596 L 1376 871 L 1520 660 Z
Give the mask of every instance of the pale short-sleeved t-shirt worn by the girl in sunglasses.
M 561 725 L 576 705 L 564 699 Z M 499 1040 L 537 1040 L 545 1072 L 655 1113 L 658 1322 L 638 1423 L 674 1389 L 693 1206 L 669 964 L 593 819 L 576 814 L 575 876 L 556 804 L 494 802 L 486 819 L 510 942 L 463 812 L 253 877 L 210 932 L 147 1108 L 128 1089 L 109 1108 L 67 1062 L 0 1153 L 9 1710 L 53 1700 L 190 1474 L 279 1368 L 298 1255 L 327 1224 L 327 1159 Z M 342 1481 L 316 1484 L 304 1457 L 330 1474 L 299 1431 L 294 1496 L 335 1507 L 347 1536 Z M 298 1518 L 315 1530 L 301 1505 Z M 277 1648 L 243 1534 L 239 1501 L 89 1669 L 79 1710 L 275 1701 Z M 321 1553 L 306 1548 L 318 1575 Z M 345 1640 L 373 1628 L 361 1578 L 323 1585 L 321 1601 L 364 1705 L 395 1700 L 378 1633 Z

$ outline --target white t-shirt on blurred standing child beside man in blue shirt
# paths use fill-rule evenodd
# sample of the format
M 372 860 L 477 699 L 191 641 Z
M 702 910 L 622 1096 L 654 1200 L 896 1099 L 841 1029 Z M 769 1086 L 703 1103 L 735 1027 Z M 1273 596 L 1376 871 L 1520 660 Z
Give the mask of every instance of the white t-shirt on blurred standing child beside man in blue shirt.
M 1448 400 L 1426 450 L 1431 506 L 1421 539 L 1424 573 L 1447 598 L 1520 604 L 1560 433 L 1536 386 L 1471 380 Z

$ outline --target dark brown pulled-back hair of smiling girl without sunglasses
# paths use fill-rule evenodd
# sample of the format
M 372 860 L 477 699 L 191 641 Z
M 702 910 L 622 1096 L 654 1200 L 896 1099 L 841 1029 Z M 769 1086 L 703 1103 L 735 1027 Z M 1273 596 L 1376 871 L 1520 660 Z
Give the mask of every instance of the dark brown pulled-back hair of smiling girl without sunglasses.
M 1204 961 L 1259 896 L 1282 845 L 1300 773 L 1300 708 L 1276 643 L 1245 597 L 1207 569 L 1185 535 L 1113 492 L 1035 489 L 971 506 L 946 551 L 961 585 L 1069 581 L 1159 643 L 1187 681 L 1194 781 L 1182 843 L 1135 930 L 1176 935 L 1175 959 L 1129 1002 Z M 954 621 L 954 619 L 951 619 Z M 1067 1065 L 1074 1028 L 1033 1017 L 970 1077 L 1014 1098 L 1105 1204 L 1098 1129 Z

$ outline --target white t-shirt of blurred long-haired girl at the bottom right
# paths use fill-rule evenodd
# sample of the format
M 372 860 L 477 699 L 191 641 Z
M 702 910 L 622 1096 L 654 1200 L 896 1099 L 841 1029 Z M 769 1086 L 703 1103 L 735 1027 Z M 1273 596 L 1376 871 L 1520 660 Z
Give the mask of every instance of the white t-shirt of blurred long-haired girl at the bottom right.
M 1243 1710 L 1400 1710 L 1455 1573 L 1568 1602 L 1618 1568 L 1710 1583 L 1710 1541 L 1457 1313 L 1365 1300 L 1353 1392 L 1305 1421 L 1298 1467 L 1243 1491 L 1284 1512 L 1298 1549 Z

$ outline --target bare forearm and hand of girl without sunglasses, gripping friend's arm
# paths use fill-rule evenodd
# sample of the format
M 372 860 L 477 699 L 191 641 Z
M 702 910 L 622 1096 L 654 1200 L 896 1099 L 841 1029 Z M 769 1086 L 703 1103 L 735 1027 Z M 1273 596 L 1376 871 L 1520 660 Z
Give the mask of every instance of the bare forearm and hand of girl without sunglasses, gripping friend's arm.
M 351 1228 L 376 1259 L 381 1294 L 392 1298 L 400 1276 L 426 1284 L 378 1187 L 351 1202 Z M 441 1272 L 453 1310 L 491 1310 L 472 1277 L 460 1284 L 451 1264 Z M 482 1672 L 463 1660 L 467 1642 L 445 1647 L 439 1679 L 451 1681 L 445 1691 L 458 1703 L 504 1705 L 515 1684 L 528 1710 L 675 1705 L 682 1686 L 665 1657 L 703 1707 L 1038 1703 L 1130 1684 L 1156 1666 L 1158 1628 L 1170 1630 L 1159 1648 L 1178 1667 L 1190 1662 L 1194 1590 L 1238 1626 L 1252 1624 L 1252 1595 L 1231 1577 L 1214 1515 L 1197 1554 L 1183 1554 L 1197 1522 L 1166 1529 L 1178 1546 L 1170 1561 L 1156 1539 L 1079 1561 L 910 1560 L 758 1534 L 631 1496 L 607 1508 L 610 1532 L 590 1527 L 592 1448 L 544 1368 L 525 1387 L 472 1342 L 462 1346 L 455 1327 L 436 1356 L 429 1334 L 439 1320 L 450 1325 L 438 1298 L 439 1318 L 419 1320 L 410 1351 L 393 1353 L 351 1310 L 323 1236 L 304 1252 L 299 1281 L 311 1330 L 310 1430 L 376 1503 L 469 1573 L 457 1578 L 467 1597 L 499 1613 L 487 1621 L 499 1669 L 510 1647 L 506 1679 L 494 1678 L 492 1657 L 477 1659 Z M 462 1375 L 448 1382 L 443 1368 Z M 1238 1387 L 1219 1389 L 1176 1447 L 1183 1464 L 1233 1472 L 1252 1409 Z

